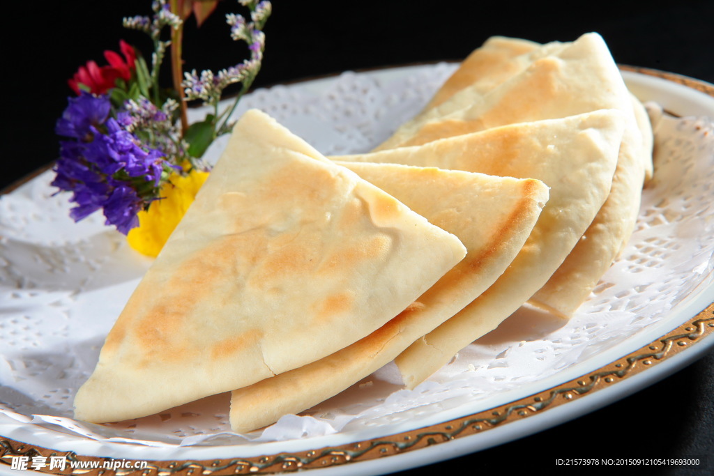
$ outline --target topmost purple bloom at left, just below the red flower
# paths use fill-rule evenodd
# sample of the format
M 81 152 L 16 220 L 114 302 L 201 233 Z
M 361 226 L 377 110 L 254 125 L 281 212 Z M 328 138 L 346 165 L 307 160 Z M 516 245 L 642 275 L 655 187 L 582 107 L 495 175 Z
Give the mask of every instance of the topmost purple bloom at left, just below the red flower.
M 59 136 L 89 141 L 91 128 L 104 123 L 109 111 L 109 96 L 94 96 L 82 91 L 76 98 L 69 98 L 69 106 L 57 121 L 55 132 Z

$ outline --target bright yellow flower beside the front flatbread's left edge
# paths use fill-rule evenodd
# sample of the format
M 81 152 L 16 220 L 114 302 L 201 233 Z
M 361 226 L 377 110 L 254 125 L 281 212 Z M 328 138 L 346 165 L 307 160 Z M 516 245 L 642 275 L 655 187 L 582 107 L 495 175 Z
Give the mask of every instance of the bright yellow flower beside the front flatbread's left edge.
M 174 173 L 161 187 L 161 199 L 151 203 L 149 210 L 139 212 L 139 226 L 126 236 L 129 246 L 144 255 L 159 255 L 206 178 L 208 172 L 197 170 L 186 176 Z

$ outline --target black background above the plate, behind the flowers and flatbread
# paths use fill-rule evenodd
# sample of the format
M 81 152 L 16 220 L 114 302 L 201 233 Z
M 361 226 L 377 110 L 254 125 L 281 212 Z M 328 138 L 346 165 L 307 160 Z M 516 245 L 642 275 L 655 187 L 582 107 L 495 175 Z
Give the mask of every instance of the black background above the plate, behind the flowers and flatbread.
M 218 69 L 243 58 L 228 39 L 223 0 L 196 31 L 186 25 L 187 69 Z M 104 64 L 119 39 L 149 54 L 143 34 L 124 16 L 150 14 L 149 0 L 11 2 L 4 5 L 4 171 L 0 187 L 51 162 L 54 123 L 76 69 Z M 463 59 L 488 36 L 571 41 L 598 31 L 618 63 L 673 71 L 714 82 L 713 1 L 296 1 L 276 0 L 266 26 L 263 69 L 270 86 L 348 69 Z M 166 76 L 165 76 L 166 77 Z

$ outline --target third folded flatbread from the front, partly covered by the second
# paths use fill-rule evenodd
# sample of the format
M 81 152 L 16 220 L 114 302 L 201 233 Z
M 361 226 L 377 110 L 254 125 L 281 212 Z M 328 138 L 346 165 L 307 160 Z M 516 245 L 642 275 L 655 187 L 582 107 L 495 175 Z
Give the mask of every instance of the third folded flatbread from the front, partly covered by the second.
M 461 348 L 496 328 L 558 269 L 593 221 L 613 183 L 624 120 L 617 110 L 513 124 L 418 147 L 343 156 L 498 176 L 537 178 L 550 198 L 531 236 L 496 283 L 396 358 L 413 387 Z

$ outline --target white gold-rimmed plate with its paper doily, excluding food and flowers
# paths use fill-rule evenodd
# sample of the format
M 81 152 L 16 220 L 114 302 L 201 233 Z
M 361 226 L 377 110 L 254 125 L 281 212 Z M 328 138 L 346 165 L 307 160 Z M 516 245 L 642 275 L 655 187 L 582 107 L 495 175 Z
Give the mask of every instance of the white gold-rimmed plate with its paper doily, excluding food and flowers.
M 453 68 L 411 66 L 276 86 L 246 96 L 236 113 L 261 108 L 326 155 L 367 151 L 416 113 Z M 623 71 L 644 101 L 656 101 L 679 116 L 714 117 L 714 86 L 647 73 Z M 351 462 L 316 474 L 367 475 L 463 455 L 583 415 L 663 378 L 714 345 L 705 324 L 703 335 L 675 339 L 687 345 L 675 343 L 650 365 L 639 358 L 662 336 L 674 339 L 680 325 L 691 323 L 714 300 L 714 188 L 708 185 L 714 182 L 713 136 L 705 119 L 663 121 L 662 175 L 645 189 L 633 240 L 567 325 L 543 318 L 526 324 L 524 319 L 537 316 L 523 311 L 413 392 L 396 391 L 388 366 L 311 409 L 310 417 L 288 418 L 248 439 L 228 432 L 225 395 L 119 425 L 71 420 L 74 391 L 94 368 L 103 336 L 150 260 L 127 249 L 101 217 L 71 223 L 66 196 L 51 196 L 51 173 L 44 173 L 0 200 L 5 265 L 0 274 L 0 435 L 79 455 L 165 460 L 169 471 L 169 462 L 187 460 L 221 460 L 215 467 L 206 463 L 208 472 L 224 463 L 235 469 L 236 458 L 259 467 L 257 457 L 270 463 L 281 452 L 312 467 L 319 452 L 309 452 L 329 448 L 334 452 L 326 465 L 333 464 L 332 457 L 343 462 L 343 454 L 353 451 Z M 223 143 L 211 149 L 213 157 Z M 603 377 L 582 395 L 563 397 L 571 381 L 613 370 L 628 355 L 639 358 L 636 369 L 612 382 Z M 516 411 L 499 425 L 484 423 L 488 431 L 467 435 L 475 425 L 471 420 L 553 391 L 563 391 L 557 393 L 563 399 L 542 410 L 526 409 L 527 417 Z M 461 432 L 454 425 L 469 428 Z M 444 435 L 448 441 L 414 449 L 426 442 L 423 428 L 437 435 L 436 442 Z M 210 435 L 220 437 L 207 439 Z M 386 443 L 363 454 L 378 441 Z M 356 442 L 362 445 L 358 450 Z M 403 449 L 395 450 L 399 445 Z M 9 471 L 0 466 L 3 470 Z

